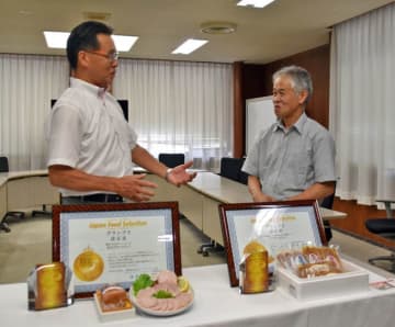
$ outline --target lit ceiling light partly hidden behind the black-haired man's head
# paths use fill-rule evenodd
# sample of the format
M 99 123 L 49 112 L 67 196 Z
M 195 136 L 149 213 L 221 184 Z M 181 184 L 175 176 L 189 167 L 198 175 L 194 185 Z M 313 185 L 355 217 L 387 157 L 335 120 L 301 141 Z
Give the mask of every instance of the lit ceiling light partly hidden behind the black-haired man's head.
M 50 48 L 66 48 L 67 46 L 67 38 L 69 37 L 69 32 L 50 32 L 44 31 L 44 37 L 47 44 L 47 47 Z M 132 46 L 137 41 L 137 36 L 128 36 L 128 35 L 111 35 L 115 48 L 119 52 L 128 52 L 131 50 Z

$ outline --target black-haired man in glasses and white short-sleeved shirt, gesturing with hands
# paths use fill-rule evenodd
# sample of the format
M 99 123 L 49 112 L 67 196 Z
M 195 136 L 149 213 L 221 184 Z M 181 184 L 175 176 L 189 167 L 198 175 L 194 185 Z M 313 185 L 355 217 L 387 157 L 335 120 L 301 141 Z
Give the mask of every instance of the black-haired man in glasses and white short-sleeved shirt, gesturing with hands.
M 138 146 L 137 135 L 108 92 L 117 67 L 112 29 L 84 22 L 68 38 L 70 87 L 50 112 L 49 180 L 63 203 L 148 201 L 155 183 L 133 174 L 133 162 L 180 185 L 191 181 L 192 161 L 169 169 Z M 132 162 L 133 161 L 133 162 Z

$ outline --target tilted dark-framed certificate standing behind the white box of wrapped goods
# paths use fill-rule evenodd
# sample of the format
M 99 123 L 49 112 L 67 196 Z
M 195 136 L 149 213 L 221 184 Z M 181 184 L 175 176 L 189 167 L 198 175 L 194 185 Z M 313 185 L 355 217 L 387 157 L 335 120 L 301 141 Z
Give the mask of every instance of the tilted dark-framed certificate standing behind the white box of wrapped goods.
M 282 246 L 285 249 L 287 245 L 297 246 L 307 241 L 315 246 L 327 245 L 316 200 L 221 204 L 218 210 L 233 287 L 239 285 L 238 264 L 251 237 L 261 240 L 273 257 Z M 275 222 L 271 223 L 273 219 Z

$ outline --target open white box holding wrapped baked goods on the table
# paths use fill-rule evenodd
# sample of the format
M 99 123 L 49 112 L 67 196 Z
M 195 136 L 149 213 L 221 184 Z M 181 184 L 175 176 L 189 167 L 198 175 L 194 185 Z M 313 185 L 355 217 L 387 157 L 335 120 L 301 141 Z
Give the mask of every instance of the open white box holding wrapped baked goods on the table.
M 341 260 L 347 272 L 301 279 L 278 268 L 279 287 L 298 300 L 316 300 L 369 291 L 369 273 L 357 264 Z

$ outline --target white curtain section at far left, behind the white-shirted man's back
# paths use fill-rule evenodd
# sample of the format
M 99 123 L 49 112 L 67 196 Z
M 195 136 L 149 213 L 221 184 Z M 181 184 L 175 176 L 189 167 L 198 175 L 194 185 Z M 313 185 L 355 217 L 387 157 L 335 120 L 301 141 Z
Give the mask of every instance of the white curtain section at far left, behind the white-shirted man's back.
M 10 170 L 45 168 L 44 122 L 67 86 L 65 57 L 0 55 L 0 154 Z

